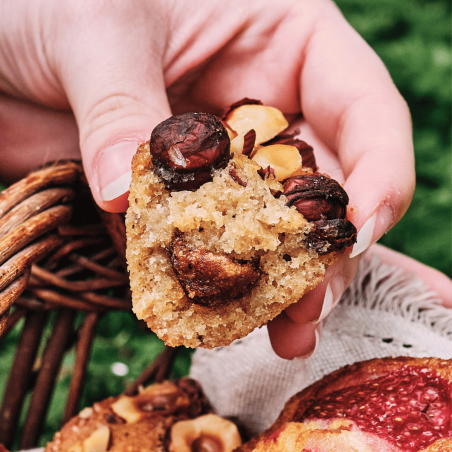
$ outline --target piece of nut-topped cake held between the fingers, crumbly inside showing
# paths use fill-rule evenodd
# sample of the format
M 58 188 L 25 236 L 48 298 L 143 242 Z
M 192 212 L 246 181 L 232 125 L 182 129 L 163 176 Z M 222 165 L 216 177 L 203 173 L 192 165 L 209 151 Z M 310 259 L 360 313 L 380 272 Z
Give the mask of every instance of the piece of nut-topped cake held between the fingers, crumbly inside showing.
M 312 290 L 352 245 L 348 196 L 276 108 L 245 99 L 159 124 L 132 162 L 133 310 L 168 345 L 213 348 Z

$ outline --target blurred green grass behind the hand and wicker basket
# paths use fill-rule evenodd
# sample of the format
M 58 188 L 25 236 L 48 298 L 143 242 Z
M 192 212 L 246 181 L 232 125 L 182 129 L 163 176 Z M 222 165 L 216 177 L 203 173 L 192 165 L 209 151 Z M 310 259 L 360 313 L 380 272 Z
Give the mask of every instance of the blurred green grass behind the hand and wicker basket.
M 337 0 L 337 4 L 383 59 L 413 116 L 416 192 L 405 217 L 381 243 L 450 276 L 451 4 L 448 0 Z M 18 331 L 15 328 L 0 344 L 0 393 L 14 357 Z M 83 406 L 123 391 L 161 349 L 162 343 L 139 329 L 131 315 L 111 313 L 103 317 Z M 63 363 L 42 444 L 59 428 L 73 361 L 74 354 L 70 353 Z M 190 352 L 181 350 L 174 377 L 185 375 L 189 364 Z

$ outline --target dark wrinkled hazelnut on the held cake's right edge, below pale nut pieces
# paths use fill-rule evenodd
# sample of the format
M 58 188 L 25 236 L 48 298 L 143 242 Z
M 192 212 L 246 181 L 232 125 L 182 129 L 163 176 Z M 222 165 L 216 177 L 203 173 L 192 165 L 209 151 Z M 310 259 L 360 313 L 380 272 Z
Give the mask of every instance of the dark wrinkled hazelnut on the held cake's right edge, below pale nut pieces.
M 345 218 L 348 196 L 338 182 L 318 173 L 293 176 L 284 183 L 287 205 L 308 221 Z

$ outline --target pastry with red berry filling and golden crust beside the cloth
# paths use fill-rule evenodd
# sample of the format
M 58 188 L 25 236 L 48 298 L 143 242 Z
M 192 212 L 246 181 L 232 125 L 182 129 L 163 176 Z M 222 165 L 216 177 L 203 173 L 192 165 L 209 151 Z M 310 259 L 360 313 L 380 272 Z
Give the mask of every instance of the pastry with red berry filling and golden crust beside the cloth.
M 237 452 L 452 451 L 451 403 L 452 360 L 364 361 L 294 395 Z

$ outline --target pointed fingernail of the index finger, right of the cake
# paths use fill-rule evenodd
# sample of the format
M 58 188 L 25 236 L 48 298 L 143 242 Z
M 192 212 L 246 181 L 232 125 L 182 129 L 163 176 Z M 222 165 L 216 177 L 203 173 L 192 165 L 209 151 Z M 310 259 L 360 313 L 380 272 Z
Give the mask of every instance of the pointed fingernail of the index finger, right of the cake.
M 383 204 L 363 225 L 356 237 L 350 257 L 358 256 L 387 232 L 394 222 L 392 209 Z

